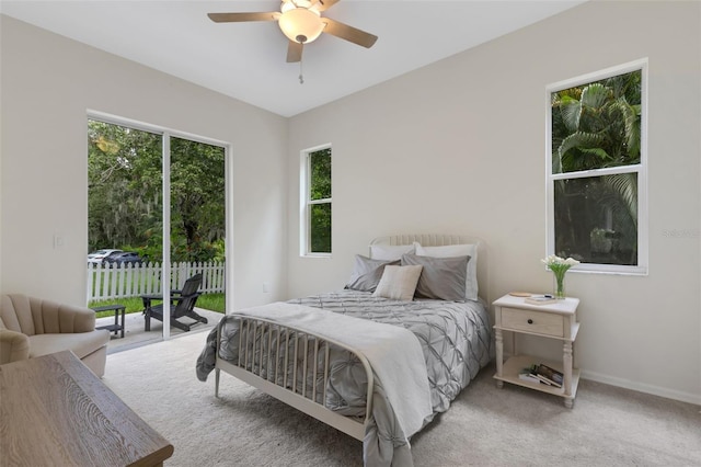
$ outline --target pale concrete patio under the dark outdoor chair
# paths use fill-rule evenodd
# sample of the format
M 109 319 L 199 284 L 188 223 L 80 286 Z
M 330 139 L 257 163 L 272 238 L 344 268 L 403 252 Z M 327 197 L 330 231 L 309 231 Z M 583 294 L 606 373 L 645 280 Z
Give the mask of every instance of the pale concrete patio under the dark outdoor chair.
M 205 338 L 206 332 L 209 332 L 210 329 L 217 326 L 219 320 L 223 317 L 223 314 L 206 310 L 203 308 L 195 308 L 195 311 L 197 311 L 199 316 L 207 318 L 208 322 L 206 324 L 202 322 L 197 322 L 192 327 L 189 331 L 183 331 L 177 328 L 171 327 L 171 339 L 177 339 L 179 337 L 182 337 L 182 335 L 191 335 L 193 333 L 202 332 L 203 333 L 202 342 L 204 345 L 205 339 L 206 339 Z M 185 323 L 195 322 L 189 318 L 180 318 L 180 320 Z M 126 315 L 124 323 L 125 323 L 124 338 L 119 337 L 120 335 L 119 332 L 117 332 L 117 335 L 115 335 L 114 333 L 110 334 L 111 339 L 110 339 L 110 342 L 107 343 L 107 355 L 115 352 L 125 351 L 128 349 L 152 344 L 163 340 L 163 337 L 162 337 L 163 323 L 156 319 L 151 319 L 151 330 L 148 332 L 145 331 L 143 330 L 145 321 L 143 321 L 142 312 L 131 312 Z M 107 324 L 114 324 L 113 316 L 105 317 L 105 318 L 97 318 L 95 326 L 100 327 L 100 326 L 107 326 Z

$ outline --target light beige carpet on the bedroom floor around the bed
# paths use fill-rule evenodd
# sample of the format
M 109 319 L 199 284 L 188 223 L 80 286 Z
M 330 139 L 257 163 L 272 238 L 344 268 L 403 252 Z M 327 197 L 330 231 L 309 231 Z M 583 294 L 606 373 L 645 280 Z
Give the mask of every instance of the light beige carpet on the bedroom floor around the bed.
M 166 466 L 360 466 L 361 444 L 229 375 L 195 377 L 206 333 L 118 352 L 104 383 L 174 446 Z M 505 385 L 493 368 L 418 433 L 423 466 L 700 466 L 701 413 L 689 403 L 582 381 L 574 409 Z

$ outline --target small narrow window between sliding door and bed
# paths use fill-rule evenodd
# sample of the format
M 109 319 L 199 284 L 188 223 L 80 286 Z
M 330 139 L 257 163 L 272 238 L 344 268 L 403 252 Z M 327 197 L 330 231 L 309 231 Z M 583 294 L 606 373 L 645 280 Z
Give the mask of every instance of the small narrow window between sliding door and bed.
M 331 147 L 302 152 L 301 255 L 331 254 Z

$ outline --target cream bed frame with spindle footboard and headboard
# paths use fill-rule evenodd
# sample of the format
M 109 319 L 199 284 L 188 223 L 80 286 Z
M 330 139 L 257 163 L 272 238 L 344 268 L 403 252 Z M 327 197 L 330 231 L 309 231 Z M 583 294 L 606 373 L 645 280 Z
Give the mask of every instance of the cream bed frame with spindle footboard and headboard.
M 403 246 L 412 244 L 414 241 L 424 247 L 440 247 L 450 244 L 478 244 L 478 281 L 483 284 L 486 282 L 486 258 L 484 242 L 475 237 L 463 235 L 399 235 L 390 237 L 379 237 L 370 243 L 386 246 Z M 486 298 L 485 291 L 481 291 L 481 296 Z M 252 318 L 250 316 L 229 314 L 239 320 L 239 358 L 237 362 L 226 361 L 219 357 L 219 334 L 217 334 L 217 351 L 215 363 L 215 396 L 219 397 L 219 374 L 221 371 L 228 373 L 251 386 L 275 397 L 276 399 L 320 420 L 321 422 L 333 426 L 356 440 L 363 441 L 365 437 L 365 429 L 367 421 L 370 419 L 372 411 L 372 369 L 367 358 L 347 344 L 327 339 L 322 335 L 315 335 L 303 329 L 289 326 L 280 326 L 266 319 Z M 262 339 L 266 335 L 266 339 Z M 260 339 L 256 339 L 258 337 Z M 281 342 L 285 344 L 281 345 Z M 363 364 L 367 374 L 368 390 L 366 399 L 365 417 L 346 417 L 327 409 L 323 403 L 317 402 L 321 397 L 321 401 L 326 399 L 326 381 L 329 380 L 329 350 L 330 345 L 345 349 L 354 354 Z M 313 358 L 308 358 L 310 346 L 313 352 Z M 257 356 L 256 356 L 257 353 Z M 290 360 L 298 361 L 302 354 L 302 368 L 294 365 L 291 375 L 288 375 L 288 362 Z M 318 357 L 324 357 L 322 374 L 318 373 Z M 255 358 L 255 362 L 254 362 Z M 280 368 L 277 362 L 283 361 L 284 368 Z M 307 387 L 308 376 L 312 376 L 313 387 Z M 317 387 L 318 379 L 323 380 L 323 387 Z M 291 381 L 289 379 L 292 379 Z M 301 389 L 299 389 L 301 380 Z

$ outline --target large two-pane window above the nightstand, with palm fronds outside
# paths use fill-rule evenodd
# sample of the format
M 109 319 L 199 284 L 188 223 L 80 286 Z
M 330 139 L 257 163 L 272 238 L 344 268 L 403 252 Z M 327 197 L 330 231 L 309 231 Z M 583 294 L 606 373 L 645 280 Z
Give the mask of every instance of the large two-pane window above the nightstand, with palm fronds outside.
M 548 87 L 548 252 L 647 273 L 646 60 Z

